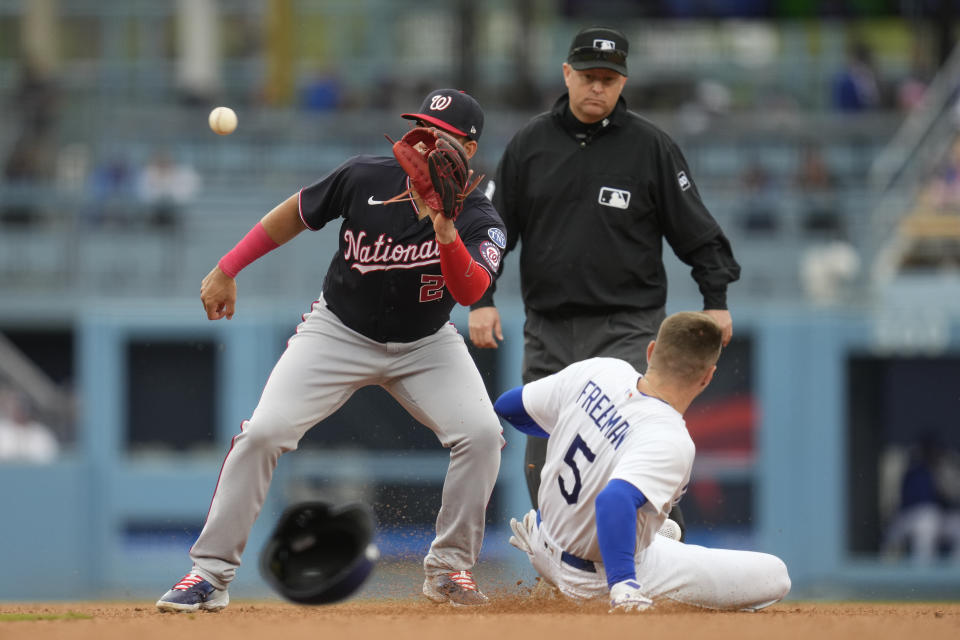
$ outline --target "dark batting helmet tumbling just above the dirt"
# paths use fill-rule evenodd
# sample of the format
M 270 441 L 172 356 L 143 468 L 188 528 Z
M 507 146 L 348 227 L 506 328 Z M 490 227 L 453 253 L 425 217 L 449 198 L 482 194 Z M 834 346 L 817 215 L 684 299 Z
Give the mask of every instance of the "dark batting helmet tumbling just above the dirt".
M 260 573 L 299 604 L 343 600 L 364 583 L 380 557 L 373 512 L 361 504 L 303 502 L 280 516 L 260 553 Z

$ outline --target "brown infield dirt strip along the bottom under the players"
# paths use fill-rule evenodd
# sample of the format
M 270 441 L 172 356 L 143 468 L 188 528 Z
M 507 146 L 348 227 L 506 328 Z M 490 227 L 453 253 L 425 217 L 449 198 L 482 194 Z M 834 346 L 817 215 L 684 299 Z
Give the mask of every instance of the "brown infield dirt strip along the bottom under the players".
M 602 604 L 578 607 L 529 595 L 499 597 L 479 610 L 434 605 L 423 599 L 352 600 L 325 607 L 240 600 L 220 613 L 196 614 L 162 614 L 152 602 L 0 603 L 2 640 L 641 637 L 955 640 L 960 638 L 960 603 L 785 602 L 759 613 L 660 606 L 632 615 L 610 615 Z

